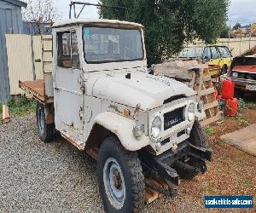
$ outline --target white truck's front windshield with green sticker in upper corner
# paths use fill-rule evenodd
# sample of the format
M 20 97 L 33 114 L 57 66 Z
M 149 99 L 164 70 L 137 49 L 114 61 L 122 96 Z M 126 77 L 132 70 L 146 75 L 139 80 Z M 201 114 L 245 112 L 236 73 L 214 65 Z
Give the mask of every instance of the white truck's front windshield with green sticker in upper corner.
M 87 63 L 143 60 L 142 33 L 138 29 L 83 28 Z

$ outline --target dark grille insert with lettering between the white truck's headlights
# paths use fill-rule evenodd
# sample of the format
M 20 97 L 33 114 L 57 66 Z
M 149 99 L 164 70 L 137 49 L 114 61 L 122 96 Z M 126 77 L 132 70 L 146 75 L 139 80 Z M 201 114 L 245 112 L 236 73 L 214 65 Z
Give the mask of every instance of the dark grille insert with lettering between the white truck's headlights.
M 177 108 L 172 112 L 166 112 L 164 114 L 164 130 L 168 130 L 177 124 L 180 124 L 184 120 L 183 116 L 184 107 Z

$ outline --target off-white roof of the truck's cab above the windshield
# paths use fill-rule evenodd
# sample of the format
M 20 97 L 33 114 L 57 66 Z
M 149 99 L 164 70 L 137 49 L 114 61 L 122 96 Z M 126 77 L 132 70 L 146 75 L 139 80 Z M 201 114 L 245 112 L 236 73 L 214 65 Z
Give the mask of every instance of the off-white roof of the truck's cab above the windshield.
M 52 27 L 71 26 L 76 24 L 95 24 L 102 26 L 124 26 L 124 27 L 139 27 L 143 28 L 143 25 L 135 22 L 128 22 L 124 20 L 100 20 L 100 19 L 69 19 L 56 21 Z

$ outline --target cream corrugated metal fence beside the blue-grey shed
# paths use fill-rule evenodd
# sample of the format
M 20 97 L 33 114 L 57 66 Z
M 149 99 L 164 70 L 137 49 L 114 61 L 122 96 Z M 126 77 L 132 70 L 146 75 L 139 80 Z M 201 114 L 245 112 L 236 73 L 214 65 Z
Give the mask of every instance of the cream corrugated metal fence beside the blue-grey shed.
M 43 57 L 43 40 L 44 43 L 47 43 L 50 52 L 52 50 L 52 36 L 6 35 L 10 95 L 23 93 L 19 88 L 19 80 L 29 81 L 44 78 L 44 60 L 51 61 L 52 56 L 49 54 L 46 59 L 45 56 Z

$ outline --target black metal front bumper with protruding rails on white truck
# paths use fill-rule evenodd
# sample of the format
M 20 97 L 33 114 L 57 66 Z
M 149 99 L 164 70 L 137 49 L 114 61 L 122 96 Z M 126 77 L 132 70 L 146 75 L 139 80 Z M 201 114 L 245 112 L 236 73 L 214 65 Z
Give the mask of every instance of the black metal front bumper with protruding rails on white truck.
M 164 179 L 168 185 L 177 187 L 179 184 L 179 176 L 177 171 L 172 167 L 183 167 L 186 170 L 192 170 L 195 174 L 200 172 L 204 173 L 207 170 L 205 161 L 212 161 L 212 150 L 203 147 L 195 147 L 190 144 L 189 141 L 183 141 L 178 145 L 177 152 L 175 153 L 172 150 L 168 150 L 165 153 L 155 156 L 142 150 L 138 153 L 138 156 L 141 159 L 143 172 L 146 177 Z M 181 159 L 186 156 L 197 158 L 200 162 L 200 166 L 195 167 L 183 163 Z M 154 190 L 156 190 L 155 187 Z M 160 193 L 163 193 L 162 189 L 160 189 Z M 172 196 L 170 192 L 166 192 L 166 194 Z

